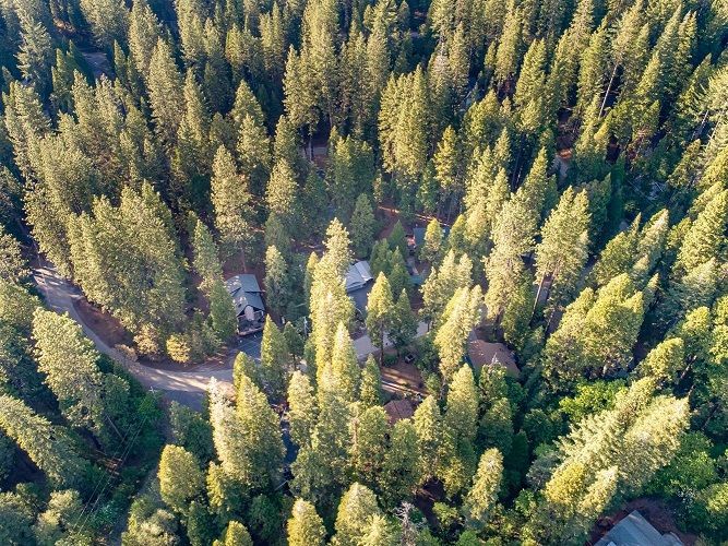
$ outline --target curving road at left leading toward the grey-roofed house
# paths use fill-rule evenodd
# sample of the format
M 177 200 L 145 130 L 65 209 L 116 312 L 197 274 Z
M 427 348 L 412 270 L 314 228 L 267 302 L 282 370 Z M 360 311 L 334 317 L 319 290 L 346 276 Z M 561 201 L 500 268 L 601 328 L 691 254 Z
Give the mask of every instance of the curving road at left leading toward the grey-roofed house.
M 199 410 L 211 378 L 224 382 L 232 381 L 230 368 L 205 369 L 200 367 L 194 371 L 177 371 L 150 368 L 130 360 L 121 352 L 107 345 L 84 323 L 73 306 L 74 300 L 81 297 L 80 290 L 64 280 L 51 264 L 45 262 L 43 266 L 34 269 L 33 278 L 44 295 L 48 308 L 60 313 L 68 313 L 81 324 L 86 336 L 94 342 L 100 353 L 122 364 L 144 387 L 163 391 L 169 400 Z

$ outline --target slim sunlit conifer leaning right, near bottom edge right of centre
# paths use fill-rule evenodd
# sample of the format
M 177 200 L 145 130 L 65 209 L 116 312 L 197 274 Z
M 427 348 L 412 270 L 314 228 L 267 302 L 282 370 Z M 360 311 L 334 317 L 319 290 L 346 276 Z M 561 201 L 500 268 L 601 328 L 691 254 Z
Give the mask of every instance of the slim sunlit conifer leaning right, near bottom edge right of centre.
M 473 487 L 463 503 L 463 511 L 469 525 L 478 529 L 487 523 L 498 501 L 502 475 L 503 455 L 500 451 L 493 448 L 480 455 Z

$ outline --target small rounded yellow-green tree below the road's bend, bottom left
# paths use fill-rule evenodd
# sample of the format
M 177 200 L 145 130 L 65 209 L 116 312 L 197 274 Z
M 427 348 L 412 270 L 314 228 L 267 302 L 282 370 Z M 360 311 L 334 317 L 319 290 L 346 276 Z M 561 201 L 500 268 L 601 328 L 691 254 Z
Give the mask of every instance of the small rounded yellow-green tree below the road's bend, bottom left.
M 190 500 L 203 491 L 204 477 L 194 455 L 179 446 L 167 444 L 159 458 L 159 492 L 172 510 L 187 513 Z

